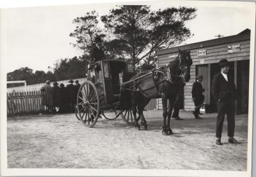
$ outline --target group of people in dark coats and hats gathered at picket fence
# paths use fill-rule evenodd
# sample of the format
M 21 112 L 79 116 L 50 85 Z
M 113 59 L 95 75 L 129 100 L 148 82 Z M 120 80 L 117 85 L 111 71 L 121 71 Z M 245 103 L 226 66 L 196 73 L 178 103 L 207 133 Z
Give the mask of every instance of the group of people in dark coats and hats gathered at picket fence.
M 58 82 L 46 81 L 40 91 L 43 93 L 42 103 L 45 105 L 49 113 L 67 113 L 76 111 L 77 92 L 79 91 L 79 81 L 75 82 L 71 79 L 69 84 L 65 86 Z

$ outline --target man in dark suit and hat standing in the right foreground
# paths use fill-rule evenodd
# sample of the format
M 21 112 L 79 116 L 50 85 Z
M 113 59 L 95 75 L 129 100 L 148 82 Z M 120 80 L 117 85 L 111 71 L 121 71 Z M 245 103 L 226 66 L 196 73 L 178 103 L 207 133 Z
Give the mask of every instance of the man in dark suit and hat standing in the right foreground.
M 225 114 L 228 122 L 228 142 L 237 144 L 234 139 L 235 110 L 236 110 L 236 86 L 231 80 L 229 63 L 227 59 L 220 60 L 221 72 L 214 75 L 212 80 L 212 95 L 217 102 L 218 116 L 216 123 L 216 144 L 221 145 L 221 132 Z

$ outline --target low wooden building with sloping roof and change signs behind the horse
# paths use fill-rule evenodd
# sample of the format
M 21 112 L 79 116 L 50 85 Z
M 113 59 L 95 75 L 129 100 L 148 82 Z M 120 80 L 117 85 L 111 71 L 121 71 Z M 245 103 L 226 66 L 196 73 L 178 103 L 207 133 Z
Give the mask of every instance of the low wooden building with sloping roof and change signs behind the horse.
M 191 66 L 191 79 L 184 87 L 184 110 L 193 111 L 195 105 L 191 90 L 196 75 L 203 75 L 202 82 L 205 88 L 205 111 L 216 112 L 216 103 L 211 95 L 212 77 L 220 72 L 218 63 L 220 59 L 230 61 L 230 73 L 237 86 L 239 98 L 237 100 L 237 113 L 248 113 L 249 88 L 249 59 L 250 59 L 250 29 L 241 33 L 204 42 L 191 43 L 170 49 L 158 50 L 158 67 L 166 65 L 170 59 L 175 58 L 180 50 L 191 50 L 193 65 Z M 162 109 L 161 99 L 157 102 L 158 109 Z

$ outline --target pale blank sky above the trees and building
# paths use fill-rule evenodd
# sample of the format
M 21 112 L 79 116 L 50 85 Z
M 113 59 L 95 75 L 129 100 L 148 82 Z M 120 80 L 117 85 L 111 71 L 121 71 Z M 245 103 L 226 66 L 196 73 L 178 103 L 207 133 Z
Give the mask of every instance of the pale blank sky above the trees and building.
M 193 2 L 193 1 L 192 1 Z M 198 1 L 197 1 L 198 2 Z M 72 58 L 81 53 L 70 43 L 69 34 L 75 29 L 72 20 L 86 12 L 96 10 L 106 15 L 118 3 L 76 4 L 65 6 L 41 6 L 9 8 L 1 13 L 1 52 L 6 72 L 28 66 L 48 71 L 48 66 L 61 58 Z M 125 3 L 124 3 L 125 4 Z M 127 4 L 127 3 L 126 3 Z M 136 4 L 136 3 L 132 3 Z M 193 37 L 182 43 L 195 43 L 216 38 L 215 35 L 236 35 L 246 28 L 252 29 L 253 11 L 250 4 L 199 4 L 173 1 L 143 1 L 152 10 L 187 6 L 197 9 L 196 18 L 186 22 Z M 221 5 L 220 5 L 221 4 Z

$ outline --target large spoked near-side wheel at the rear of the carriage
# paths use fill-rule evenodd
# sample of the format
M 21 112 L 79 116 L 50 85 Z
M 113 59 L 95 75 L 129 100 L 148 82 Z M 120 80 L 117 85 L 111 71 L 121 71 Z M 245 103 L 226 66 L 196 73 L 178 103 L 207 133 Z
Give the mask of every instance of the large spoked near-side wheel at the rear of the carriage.
M 100 114 L 99 95 L 93 82 L 85 81 L 77 93 L 77 116 L 84 126 L 93 127 Z

